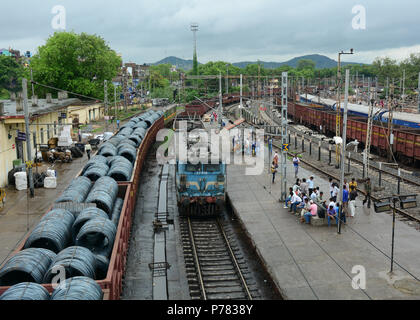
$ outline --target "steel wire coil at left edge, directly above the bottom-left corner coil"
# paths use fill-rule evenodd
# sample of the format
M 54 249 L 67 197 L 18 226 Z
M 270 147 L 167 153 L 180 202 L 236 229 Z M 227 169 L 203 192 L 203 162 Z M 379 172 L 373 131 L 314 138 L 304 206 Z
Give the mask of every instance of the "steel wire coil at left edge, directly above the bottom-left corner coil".
M 21 282 L 42 283 L 56 254 L 42 248 L 28 248 L 16 253 L 0 269 L 0 286 Z

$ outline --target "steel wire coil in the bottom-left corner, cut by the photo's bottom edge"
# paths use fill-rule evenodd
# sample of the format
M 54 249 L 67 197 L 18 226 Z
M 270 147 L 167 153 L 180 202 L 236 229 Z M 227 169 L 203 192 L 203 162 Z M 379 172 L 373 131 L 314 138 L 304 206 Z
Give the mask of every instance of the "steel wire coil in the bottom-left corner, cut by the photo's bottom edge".
M 22 282 L 7 289 L 0 300 L 50 300 L 50 293 L 38 283 Z

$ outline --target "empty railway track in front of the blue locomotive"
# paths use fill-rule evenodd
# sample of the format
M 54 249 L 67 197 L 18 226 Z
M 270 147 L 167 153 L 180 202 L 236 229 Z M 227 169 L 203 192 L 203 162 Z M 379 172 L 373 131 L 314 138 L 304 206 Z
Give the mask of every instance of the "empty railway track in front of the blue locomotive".
M 220 218 L 181 218 L 180 231 L 192 299 L 260 297 L 233 232 L 225 222 Z

